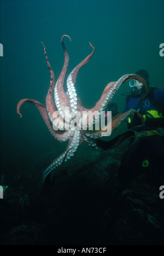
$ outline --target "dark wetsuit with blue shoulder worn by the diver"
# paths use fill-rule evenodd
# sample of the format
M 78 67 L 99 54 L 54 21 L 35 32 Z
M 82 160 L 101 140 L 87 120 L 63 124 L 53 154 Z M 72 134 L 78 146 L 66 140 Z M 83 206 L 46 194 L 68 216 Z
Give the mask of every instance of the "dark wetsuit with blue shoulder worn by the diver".
M 164 109 L 164 90 L 155 89 L 153 90 L 153 99 L 149 97 L 149 94 L 143 101 L 136 100 L 135 97 L 129 97 L 124 112 L 131 108 L 138 110 L 142 115 L 147 115 L 149 110 L 157 110 L 163 115 Z M 140 106 L 139 106 L 140 105 Z M 161 110 L 161 111 L 160 111 Z M 162 115 L 159 117 L 153 117 L 151 114 L 145 118 L 145 126 L 138 127 L 141 123 L 136 117 L 128 123 L 128 128 L 135 130 L 137 132 L 158 130 L 164 127 Z M 141 133 L 142 134 L 142 133 Z M 144 133 L 143 133 L 144 134 Z M 148 160 L 144 162 L 145 160 Z M 149 165 L 147 164 L 149 162 Z M 154 135 L 154 136 L 141 136 L 138 139 L 137 144 L 124 155 L 124 159 L 121 162 L 119 168 L 119 179 L 120 181 L 131 181 L 132 179 L 138 177 L 145 171 L 156 170 L 164 178 L 163 171 L 164 162 L 164 136 Z M 148 166 L 147 166 L 148 165 Z M 147 166 L 147 167 L 143 167 Z

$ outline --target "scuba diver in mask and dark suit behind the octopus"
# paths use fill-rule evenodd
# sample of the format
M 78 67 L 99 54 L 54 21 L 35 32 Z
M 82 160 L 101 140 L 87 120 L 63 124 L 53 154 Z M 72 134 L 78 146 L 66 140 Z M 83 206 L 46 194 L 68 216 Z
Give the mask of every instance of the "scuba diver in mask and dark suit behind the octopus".
M 164 178 L 164 90 L 149 86 L 149 74 L 145 69 L 136 72 L 148 85 L 145 94 L 142 83 L 135 79 L 129 81 L 131 94 L 126 98 L 124 112 L 131 108 L 143 115 L 145 126 L 137 115 L 127 119 L 128 129 L 138 133 L 137 143 L 125 153 L 119 168 L 122 182 L 137 178 L 144 171 L 157 171 Z

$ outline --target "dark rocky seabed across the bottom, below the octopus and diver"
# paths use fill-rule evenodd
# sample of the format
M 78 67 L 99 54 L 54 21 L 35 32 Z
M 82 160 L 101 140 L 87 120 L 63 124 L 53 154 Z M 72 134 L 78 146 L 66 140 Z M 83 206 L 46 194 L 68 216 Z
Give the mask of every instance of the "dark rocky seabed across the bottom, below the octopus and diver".
M 35 185 L 35 172 L 21 179 L 24 190 L 16 183 L 0 205 L 0 244 L 163 245 L 161 179 L 145 173 L 120 183 L 119 166 L 108 152 L 81 147 L 55 185 Z

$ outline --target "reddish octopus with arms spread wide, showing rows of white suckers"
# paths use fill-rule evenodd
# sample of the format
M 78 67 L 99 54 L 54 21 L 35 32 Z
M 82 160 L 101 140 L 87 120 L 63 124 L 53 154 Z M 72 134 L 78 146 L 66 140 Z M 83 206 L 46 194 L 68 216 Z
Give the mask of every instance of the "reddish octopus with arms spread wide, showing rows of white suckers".
M 119 78 L 116 82 L 110 82 L 106 88 L 104 89 L 99 101 L 95 104 L 95 106 L 91 109 L 86 109 L 83 107 L 83 104 L 80 101 L 80 98 L 77 97 L 77 92 L 75 89 L 75 83 L 77 74 L 79 72 L 79 69 L 83 67 L 92 57 L 95 48 L 90 43 L 90 46 L 92 48 L 92 53 L 89 54 L 83 61 L 77 65 L 71 74 L 68 75 L 67 78 L 67 91 L 65 92 L 63 88 L 63 83 L 65 81 L 65 76 L 67 72 L 68 67 L 68 53 L 65 46 L 65 43 L 63 42 L 63 38 L 68 37 L 70 40 L 71 38 L 67 35 L 63 35 L 61 39 L 64 55 L 65 55 L 65 61 L 64 65 L 60 74 L 60 77 L 58 78 L 56 84 L 55 84 L 55 75 L 54 72 L 51 69 L 50 63 L 48 61 L 48 57 L 46 56 L 46 50 L 45 46 L 42 43 L 44 47 L 44 55 L 46 64 L 48 66 L 48 69 L 50 71 L 50 86 L 48 90 L 48 95 L 46 96 L 46 106 L 36 100 L 32 100 L 30 98 L 25 98 L 24 100 L 21 100 L 17 104 L 17 114 L 20 115 L 20 118 L 22 115 L 20 114 L 20 107 L 24 102 L 30 102 L 34 106 L 37 107 L 40 114 L 42 115 L 46 126 L 48 127 L 49 131 L 51 132 L 52 136 L 54 136 L 58 141 L 65 142 L 68 141 L 68 146 L 58 158 L 56 158 L 52 163 L 46 168 L 46 170 L 43 173 L 42 182 L 44 183 L 46 178 L 49 176 L 49 174 L 61 166 L 64 161 L 67 161 L 71 159 L 72 156 L 74 156 L 74 153 L 77 152 L 78 148 L 80 147 L 81 143 L 83 141 L 86 141 L 87 144 L 89 144 L 90 147 L 92 147 L 95 150 L 103 150 L 102 144 L 103 142 L 99 143 L 99 139 L 102 137 L 102 131 L 103 129 L 97 130 L 91 130 L 89 127 L 95 124 L 97 120 L 101 117 L 101 112 L 106 109 L 109 102 L 112 100 L 114 94 L 118 89 L 120 88 L 121 84 L 127 82 L 130 79 L 136 79 L 139 82 L 142 82 L 145 88 L 145 92 L 147 94 L 147 84 L 145 83 L 144 79 L 139 77 L 137 74 L 126 74 L 122 75 L 121 78 Z M 53 96 L 54 95 L 54 96 Z M 86 118 L 86 125 L 85 127 L 81 127 L 81 129 L 77 129 L 76 126 L 73 124 L 73 120 L 76 119 L 77 123 L 81 122 L 81 115 L 83 115 L 83 112 L 89 112 L 91 111 L 94 113 L 93 120 L 90 120 L 89 118 L 84 116 L 84 119 Z M 58 113 L 56 115 L 55 113 Z M 71 119 L 70 119 L 70 113 Z M 81 115 L 78 118 L 78 113 Z M 117 127 L 119 127 L 124 121 L 127 120 L 128 117 L 130 117 L 132 114 L 138 114 L 136 110 L 131 109 L 126 113 L 119 113 L 114 118 L 112 118 L 112 132 L 115 131 Z M 58 121 L 58 117 L 60 117 L 60 121 Z M 142 116 L 139 115 L 139 117 L 142 119 Z M 143 119 L 142 119 L 143 121 Z M 144 121 L 143 121 L 144 122 Z M 64 127 L 64 129 L 63 129 Z M 109 136 L 110 133 L 107 133 L 105 136 Z M 131 135 L 131 133 L 130 133 Z M 128 133 L 125 135 L 120 135 L 110 141 L 108 143 L 108 149 L 113 149 L 116 146 L 118 146 L 121 141 L 123 141 L 125 138 L 127 138 Z M 99 146 L 101 145 L 101 146 Z

